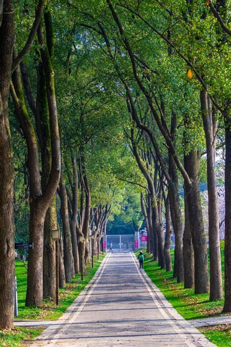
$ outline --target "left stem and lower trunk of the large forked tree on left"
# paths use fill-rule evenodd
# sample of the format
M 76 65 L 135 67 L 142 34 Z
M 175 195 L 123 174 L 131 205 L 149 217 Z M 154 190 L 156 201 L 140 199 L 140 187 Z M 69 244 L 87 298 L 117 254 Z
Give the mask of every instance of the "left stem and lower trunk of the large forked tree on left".
M 20 128 L 22 129 L 26 139 L 28 154 L 27 168 L 30 182 L 29 238 L 30 242 L 34 243 L 34 249 L 29 250 L 28 253 L 26 306 L 41 306 L 43 225 L 48 205 L 45 206 L 45 208 L 42 208 L 40 204 L 42 191 L 39 172 L 37 138 L 25 106 L 18 67 L 15 69 L 12 75 L 11 96 L 15 104 L 16 116 L 19 121 Z

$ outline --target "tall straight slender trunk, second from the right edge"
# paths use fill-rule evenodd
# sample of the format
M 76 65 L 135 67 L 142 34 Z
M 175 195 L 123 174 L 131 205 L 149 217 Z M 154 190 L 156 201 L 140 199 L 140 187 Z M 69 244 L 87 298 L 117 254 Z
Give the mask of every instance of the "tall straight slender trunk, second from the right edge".
M 207 182 L 209 198 L 210 300 L 223 298 L 221 251 L 219 237 L 219 207 L 216 187 L 215 149 L 217 122 L 212 116 L 211 102 L 203 89 L 200 92 L 201 112 L 206 138 Z

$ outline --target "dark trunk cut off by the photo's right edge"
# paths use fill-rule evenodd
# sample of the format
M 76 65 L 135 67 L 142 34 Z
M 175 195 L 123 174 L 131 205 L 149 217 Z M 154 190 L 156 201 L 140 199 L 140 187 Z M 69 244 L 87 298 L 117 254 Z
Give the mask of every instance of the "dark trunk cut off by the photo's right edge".
M 231 312 L 231 121 L 225 121 L 225 303 L 223 312 Z

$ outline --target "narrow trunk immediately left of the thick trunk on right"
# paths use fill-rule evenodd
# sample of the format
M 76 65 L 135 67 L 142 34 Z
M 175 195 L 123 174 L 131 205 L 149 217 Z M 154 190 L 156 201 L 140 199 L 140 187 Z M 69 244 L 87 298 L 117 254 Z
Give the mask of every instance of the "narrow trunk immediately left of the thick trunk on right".
M 185 189 L 184 189 L 185 190 Z M 184 254 L 184 288 L 194 287 L 194 253 L 190 230 L 187 193 L 184 195 L 185 201 L 185 230 L 183 235 L 183 254 Z

